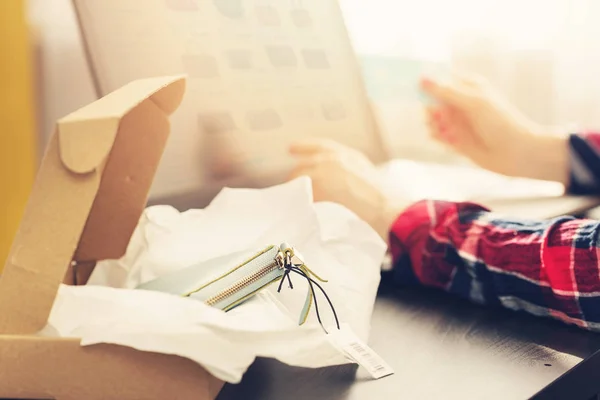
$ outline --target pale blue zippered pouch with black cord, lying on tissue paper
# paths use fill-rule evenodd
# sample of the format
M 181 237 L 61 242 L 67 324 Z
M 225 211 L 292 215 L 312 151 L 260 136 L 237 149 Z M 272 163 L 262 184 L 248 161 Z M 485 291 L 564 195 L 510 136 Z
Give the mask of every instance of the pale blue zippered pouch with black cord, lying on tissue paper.
M 274 282 L 280 282 L 278 291 L 281 290 L 284 280 L 287 280 L 289 287 L 293 288 L 290 273 L 294 272 L 309 283 L 309 291 L 300 314 L 300 325 L 306 322 L 313 299 L 316 302 L 315 285 L 325 295 L 333 310 L 329 297 L 313 277 L 321 282 L 326 281 L 308 269 L 287 243 L 268 246 L 248 260 L 230 267 L 231 260 L 239 259 L 239 256 L 239 253 L 232 254 L 200 263 L 142 284 L 137 289 L 191 297 L 209 306 L 228 311 Z M 295 263 L 293 260 L 298 262 Z M 335 310 L 333 312 L 335 315 Z M 318 310 L 317 317 L 321 322 Z M 335 317 L 337 323 L 337 315 Z

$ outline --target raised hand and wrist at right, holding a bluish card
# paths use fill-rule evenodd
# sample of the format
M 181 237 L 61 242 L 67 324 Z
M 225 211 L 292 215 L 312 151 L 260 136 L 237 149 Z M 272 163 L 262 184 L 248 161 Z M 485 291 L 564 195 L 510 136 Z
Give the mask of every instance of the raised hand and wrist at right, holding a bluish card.
M 437 141 L 493 172 L 567 183 L 566 136 L 549 135 L 550 129 L 527 119 L 487 82 L 424 79 L 421 86 L 438 103 L 426 113 Z

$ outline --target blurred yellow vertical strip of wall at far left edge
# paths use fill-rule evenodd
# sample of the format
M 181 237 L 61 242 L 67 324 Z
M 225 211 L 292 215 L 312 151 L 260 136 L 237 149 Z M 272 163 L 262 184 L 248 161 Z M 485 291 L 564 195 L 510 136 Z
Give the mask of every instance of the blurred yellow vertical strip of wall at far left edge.
M 36 165 L 33 84 L 24 0 L 0 0 L 0 272 Z

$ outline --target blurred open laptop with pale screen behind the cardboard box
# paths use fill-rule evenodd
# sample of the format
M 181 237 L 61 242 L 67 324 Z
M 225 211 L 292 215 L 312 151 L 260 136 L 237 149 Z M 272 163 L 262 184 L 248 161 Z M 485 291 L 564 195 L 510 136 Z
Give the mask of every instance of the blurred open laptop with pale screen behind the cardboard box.
M 151 199 L 278 183 L 292 165 L 289 143 L 310 135 L 364 152 L 381 166 L 396 196 L 465 200 L 562 193 L 547 182 L 395 160 L 393 141 L 373 104 L 381 100 L 377 96 L 393 93 L 381 90 L 381 83 L 397 93 L 407 84 L 416 87 L 419 66 L 387 63 L 401 79 L 378 86 L 381 60 L 357 58 L 336 0 L 74 0 L 74 5 L 97 96 L 143 77 L 188 76 Z M 407 123 L 405 129 L 419 126 Z

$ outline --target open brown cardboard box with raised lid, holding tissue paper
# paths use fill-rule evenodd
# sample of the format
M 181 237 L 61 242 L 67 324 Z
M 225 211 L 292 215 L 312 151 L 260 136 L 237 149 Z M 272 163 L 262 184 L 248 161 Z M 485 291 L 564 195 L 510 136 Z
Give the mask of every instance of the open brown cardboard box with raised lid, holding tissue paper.
M 134 81 L 58 122 L 0 277 L 0 398 L 214 399 L 192 361 L 37 336 L 59 285 L 121 257 L 145 208 L 182 77 Z

